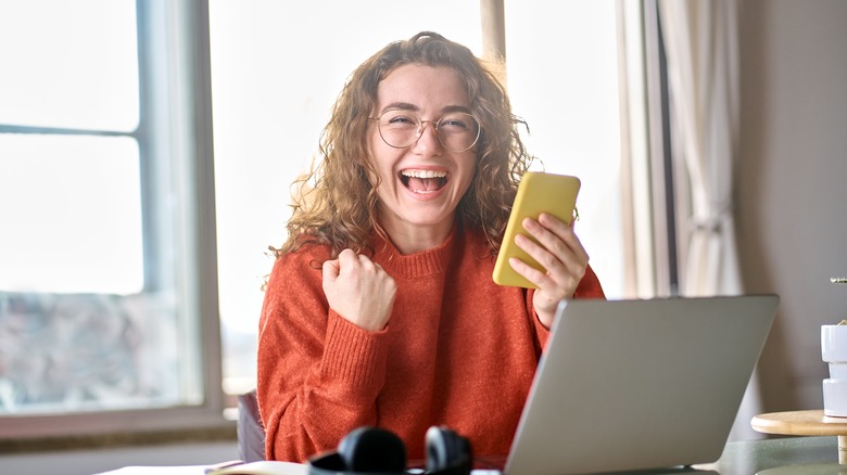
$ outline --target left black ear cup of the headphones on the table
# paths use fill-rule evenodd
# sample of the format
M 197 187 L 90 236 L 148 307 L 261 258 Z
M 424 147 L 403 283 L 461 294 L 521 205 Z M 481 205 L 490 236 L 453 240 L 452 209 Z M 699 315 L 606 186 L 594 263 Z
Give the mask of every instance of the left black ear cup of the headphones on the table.
M 392 472 L 406 470 L 406 446 L 393 433 L 379 427 L 358 427 L 344 436 L 338 453 L 349 472 Z

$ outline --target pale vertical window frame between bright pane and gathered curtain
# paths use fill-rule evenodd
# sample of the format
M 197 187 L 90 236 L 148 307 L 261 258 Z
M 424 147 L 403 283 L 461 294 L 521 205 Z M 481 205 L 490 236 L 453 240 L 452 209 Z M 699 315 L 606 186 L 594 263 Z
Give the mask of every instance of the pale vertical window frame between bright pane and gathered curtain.
M 679 294 L 685 180 L 673 166 L 668 73 L 658 0 L 617 0 L 623 116 L 627 294 Z

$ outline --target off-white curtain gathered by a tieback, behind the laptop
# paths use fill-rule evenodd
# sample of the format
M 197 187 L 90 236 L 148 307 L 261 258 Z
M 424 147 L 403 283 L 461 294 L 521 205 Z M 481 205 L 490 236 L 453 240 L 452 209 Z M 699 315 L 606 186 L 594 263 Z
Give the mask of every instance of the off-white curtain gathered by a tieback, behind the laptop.
M 681 235 L 685 296 L 743 293 L 733 221 L 738 139 L 735 0 L 659 0 L 668 64 L 674 156 L 687 177 L 691 216 Z M 747 388 L 731 439 L 754 439 L 757 377 Z

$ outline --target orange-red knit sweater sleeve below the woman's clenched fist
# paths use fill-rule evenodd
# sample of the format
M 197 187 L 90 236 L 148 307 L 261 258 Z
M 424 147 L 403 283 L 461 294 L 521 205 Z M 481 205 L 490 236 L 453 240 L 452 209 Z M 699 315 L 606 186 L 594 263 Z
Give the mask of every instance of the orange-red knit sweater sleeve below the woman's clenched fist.
M 308 254 L 275 262 L 260 319 L 256 393 L 268 460 L 304 462 L 374 425 L 385 377 L 389 330 L 367 332 L 330 310 L 312 264 L 323 259 Z

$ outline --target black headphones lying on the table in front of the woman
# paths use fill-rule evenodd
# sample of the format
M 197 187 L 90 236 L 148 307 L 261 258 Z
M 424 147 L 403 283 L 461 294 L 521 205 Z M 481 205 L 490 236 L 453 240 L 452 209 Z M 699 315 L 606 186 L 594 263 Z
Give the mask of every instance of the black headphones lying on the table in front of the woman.
M 469 475 L 473 465 L 470 442 L 446 427 L 427 431 L 429 475 Z M 338 450 L 308 461 L 309 475 L 407 475 L 406 446 L 379 427 L 359 427 L 341 439 Z

